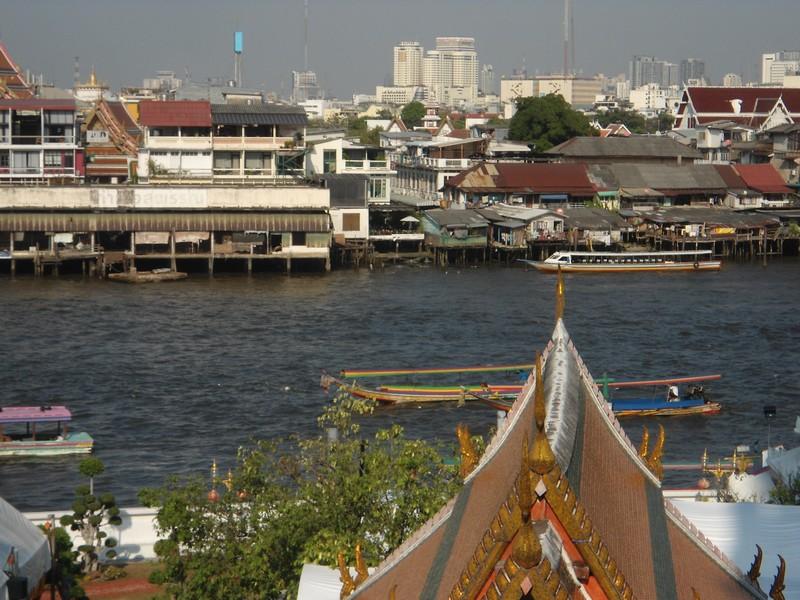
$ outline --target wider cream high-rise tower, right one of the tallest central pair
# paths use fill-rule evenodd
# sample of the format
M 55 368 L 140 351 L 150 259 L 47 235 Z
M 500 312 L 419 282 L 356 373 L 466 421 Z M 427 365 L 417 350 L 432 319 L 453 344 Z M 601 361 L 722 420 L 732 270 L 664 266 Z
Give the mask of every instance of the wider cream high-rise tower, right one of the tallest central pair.
M 437 37 L 436 49 L 425 53 L 422 80 L 439 102 L 474 102 L 478 96 L 475 38 Z

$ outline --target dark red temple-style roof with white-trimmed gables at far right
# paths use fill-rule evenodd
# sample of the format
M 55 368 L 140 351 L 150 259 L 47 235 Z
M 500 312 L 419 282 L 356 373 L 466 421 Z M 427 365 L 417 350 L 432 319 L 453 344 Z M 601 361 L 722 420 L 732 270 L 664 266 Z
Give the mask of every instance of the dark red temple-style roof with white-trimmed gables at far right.
M 687 93 L 697 113 L 736 114 L 733 100 L 741 100 L 742 113 L 768 113 L 778 98 L 790 113 L 800 114 L 800 89 L 796 88 L 750 88 L 750 87 L 698 87 L 688 88 Z

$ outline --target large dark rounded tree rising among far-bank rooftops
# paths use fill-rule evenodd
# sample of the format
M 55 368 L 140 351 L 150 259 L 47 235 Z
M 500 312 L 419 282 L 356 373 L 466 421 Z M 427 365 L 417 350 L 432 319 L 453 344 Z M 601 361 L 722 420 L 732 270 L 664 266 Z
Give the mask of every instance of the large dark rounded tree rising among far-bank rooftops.
M 573 110 L 561 95 L 517 99 L 517 112 L 509 124 L 509 139 L 528 142 L 537 152 L 544 152 L 580 135 L 597 133 L 586 116 Z

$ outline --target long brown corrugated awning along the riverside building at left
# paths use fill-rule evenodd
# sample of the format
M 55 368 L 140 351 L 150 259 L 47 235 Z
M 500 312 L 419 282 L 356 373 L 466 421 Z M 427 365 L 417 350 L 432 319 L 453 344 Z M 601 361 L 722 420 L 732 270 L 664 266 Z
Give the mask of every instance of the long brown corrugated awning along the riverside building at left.
M 304 231 L 331 230 L 327 213 L 0 213 L 0 231 Z

